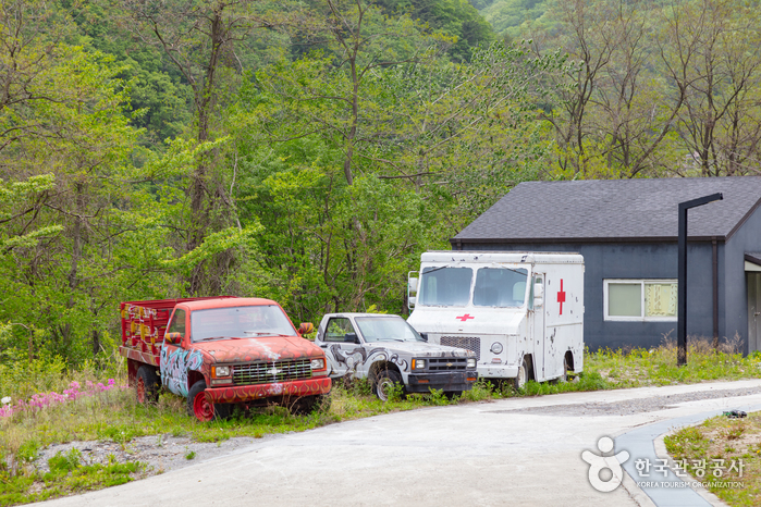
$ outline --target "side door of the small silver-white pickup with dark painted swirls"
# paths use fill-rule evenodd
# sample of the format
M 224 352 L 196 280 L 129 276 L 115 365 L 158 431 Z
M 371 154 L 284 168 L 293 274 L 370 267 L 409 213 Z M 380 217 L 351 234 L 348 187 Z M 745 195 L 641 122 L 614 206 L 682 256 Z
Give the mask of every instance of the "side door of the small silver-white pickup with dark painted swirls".
M 366 376 L 361 344 L 357 343 L 357 331 L 347 317 L 332 317 L 326 324 L 320 347 L 330 364 L 330 376 L 344 376 L 347 373 Z M 364 351 L 364 350 L 363 350 Z

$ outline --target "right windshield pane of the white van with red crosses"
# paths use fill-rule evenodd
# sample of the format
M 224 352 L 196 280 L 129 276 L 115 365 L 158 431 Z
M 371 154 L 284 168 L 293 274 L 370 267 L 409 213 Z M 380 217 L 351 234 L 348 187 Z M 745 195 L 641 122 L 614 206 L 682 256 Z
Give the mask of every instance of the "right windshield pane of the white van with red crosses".
M 477 307 L 519 307 L 526 300 L 528 270 L 481 268 L 476 273 L 472 304 Z

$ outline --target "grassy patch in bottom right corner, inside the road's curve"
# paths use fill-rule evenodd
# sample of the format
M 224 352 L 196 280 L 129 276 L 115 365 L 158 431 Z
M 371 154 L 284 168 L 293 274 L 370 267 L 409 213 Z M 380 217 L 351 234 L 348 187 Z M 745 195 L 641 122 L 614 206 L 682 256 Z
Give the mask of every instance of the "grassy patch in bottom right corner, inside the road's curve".
M 761 497 L 761 412 L 746 419 L 711 418 L 696 426 L 683 428 L 664 438 L 666 450 L 675 460 L 686 459 L 687 472 L 692 479 L 731 506 L 756 506 Z M 712 465 L 722 463 L 716 474 Z M 734 461 L 744 468 L 728 470 Z M 704 462 L 704 466 L 697 465 Z M 715 470 L 715 469 L 714 469 Z M 729 483 L 732 487 L 727 487 Z M 738 487 L 733 483 L 741 483 Z M 722 484 L 725 484 L 722 486 Z

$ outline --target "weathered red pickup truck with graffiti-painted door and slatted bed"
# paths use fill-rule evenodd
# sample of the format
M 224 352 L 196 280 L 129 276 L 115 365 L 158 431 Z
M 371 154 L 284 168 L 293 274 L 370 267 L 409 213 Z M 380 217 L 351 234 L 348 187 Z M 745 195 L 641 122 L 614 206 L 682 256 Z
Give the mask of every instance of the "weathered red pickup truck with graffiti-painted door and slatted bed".
M 223 418 L 234 404 L 281 403 L 310 412 L 330 392 L 326 356 L 296 331 L 275 301 L 184 298 L 121 305 L 122 346 L 138 403 L 159 387 L 187 398 L 201 421 Z

